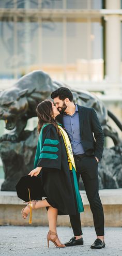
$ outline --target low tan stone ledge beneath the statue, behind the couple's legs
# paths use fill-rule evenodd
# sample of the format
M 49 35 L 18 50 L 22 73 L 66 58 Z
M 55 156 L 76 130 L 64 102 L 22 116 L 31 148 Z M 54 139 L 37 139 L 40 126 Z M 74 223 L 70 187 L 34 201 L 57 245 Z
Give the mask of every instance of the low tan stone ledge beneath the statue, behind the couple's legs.
M 122 219 L 122 189 L 99 190 L 100 198 L 104 208 L 105 226 L 121 227 Z M 93 216 L 89 207 L 85 191 L 81 191 L 85 212 L 81 214 L 83 226 L 93 226 Z M 24 208 L 23 201 L 17 197 L 16 192 L 0 191 L 0 225 L 29 225 L 27 218 L 21 216 L 21 209 Z M 33 212 L 32 225 L 47 226 L 47 210 L 41 208 Z M 70 227 L 69 216 L 58 216 L 58 226 Z

